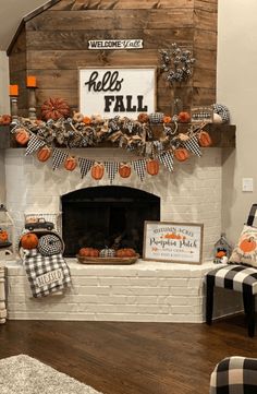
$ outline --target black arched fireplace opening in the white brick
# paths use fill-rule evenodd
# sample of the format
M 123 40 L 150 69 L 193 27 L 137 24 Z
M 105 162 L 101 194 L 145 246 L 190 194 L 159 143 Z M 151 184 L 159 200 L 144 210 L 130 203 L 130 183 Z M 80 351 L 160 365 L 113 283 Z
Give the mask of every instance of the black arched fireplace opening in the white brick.
M 160 198 L 134 188 L 79 189 L 61 203 L 66 258 L 81 248 L 133 248 L 142 255 L 145 220 L 160 220 Z

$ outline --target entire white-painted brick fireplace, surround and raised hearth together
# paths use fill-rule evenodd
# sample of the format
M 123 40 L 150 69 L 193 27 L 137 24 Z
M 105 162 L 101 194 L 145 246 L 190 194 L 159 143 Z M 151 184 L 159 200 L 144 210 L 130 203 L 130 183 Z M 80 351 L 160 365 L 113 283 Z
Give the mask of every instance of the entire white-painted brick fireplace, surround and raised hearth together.
M 84 148 L 74 154 L 99 162 L 136 158 L 118 148 Z M 89 174 L 81 179 L 78 169 L 53 171 L 50 162 L 41 164 L 33 155 L 25 157 L 22 148 L 7 150 L 4 163 L 7 206 L 17 236 L 25 213 L 58 214 L 63 194 L 110 184 L 107 176 L 97 182 Z M 83 265 L 69 259 L 72 288 L 63 296 L 38 300 L 30 297 L 21 261 L 9 262 L 9 319 L 203 322 L 204 276 L 213 267 L 212 248 L 221 230 L 221 150 L 208 148 L 203 150 L 201 158 L 192 156 L 186 163 L 175 164 L 173 172 L 161 167 L 158 176 L 146 175 L 143 182 L 135 174 L 128 179 L 118 175 L 113 182 L 160 196 L 163 222 L 203 223 L 201 265 L 143 260 L 132 265 Z M 235 303 L 240 307 L 237 298 L 229 301 L 228 308 L 218 305 L 216 313 L 230 313 Z

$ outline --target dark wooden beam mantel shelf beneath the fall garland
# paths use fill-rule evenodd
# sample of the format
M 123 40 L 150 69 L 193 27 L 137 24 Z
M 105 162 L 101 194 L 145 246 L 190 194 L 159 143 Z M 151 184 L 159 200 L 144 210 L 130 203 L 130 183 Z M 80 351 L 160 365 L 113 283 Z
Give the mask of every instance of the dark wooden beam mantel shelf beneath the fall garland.
M 205 130 L 209 132 L 212 145 L 210 147 L 235 147 L 235 126 L 234 124 L 219 124 L 208 123 L 205 126 Z M 186 133 L 188 131 L 188 123 L 180 123 L 178 133 Z M 98 145 L 96 147 L 107 146 Z M 108 145 L 110 146 L 110 145 Z M 112 145 L 113 146 L 113 145 Z M 0 150 L 7 148 L 21 148 L 16 142 L 12 139 L 9 126 L 0 126 Z

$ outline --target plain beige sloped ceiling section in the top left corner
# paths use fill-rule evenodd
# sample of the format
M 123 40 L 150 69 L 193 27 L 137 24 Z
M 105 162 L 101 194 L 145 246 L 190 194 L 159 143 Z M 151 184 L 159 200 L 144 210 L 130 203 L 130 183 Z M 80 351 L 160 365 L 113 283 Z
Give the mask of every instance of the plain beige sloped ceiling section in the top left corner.
M 0 50 L 7 50 L 22 19 L 47 3 L 44 0 L 0 0 Z

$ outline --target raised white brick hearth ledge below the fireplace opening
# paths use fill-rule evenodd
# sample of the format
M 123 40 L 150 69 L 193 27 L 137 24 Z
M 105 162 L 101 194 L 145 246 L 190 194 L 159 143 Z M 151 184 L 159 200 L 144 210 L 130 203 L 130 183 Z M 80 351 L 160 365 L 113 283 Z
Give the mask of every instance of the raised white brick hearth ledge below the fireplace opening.
M 204 277 L 216 266 L 142 260 L 132 265 L 83 265 L 69 260 L 69 265 L 72 288 L 63 296 L 35 299 L 21 263 L 7 263 L 8 318 L 200 323 L 205 320 Z M 241 309 L 241 302 L 234 291 L 216 299 L 216 315 L 236 308 Z

